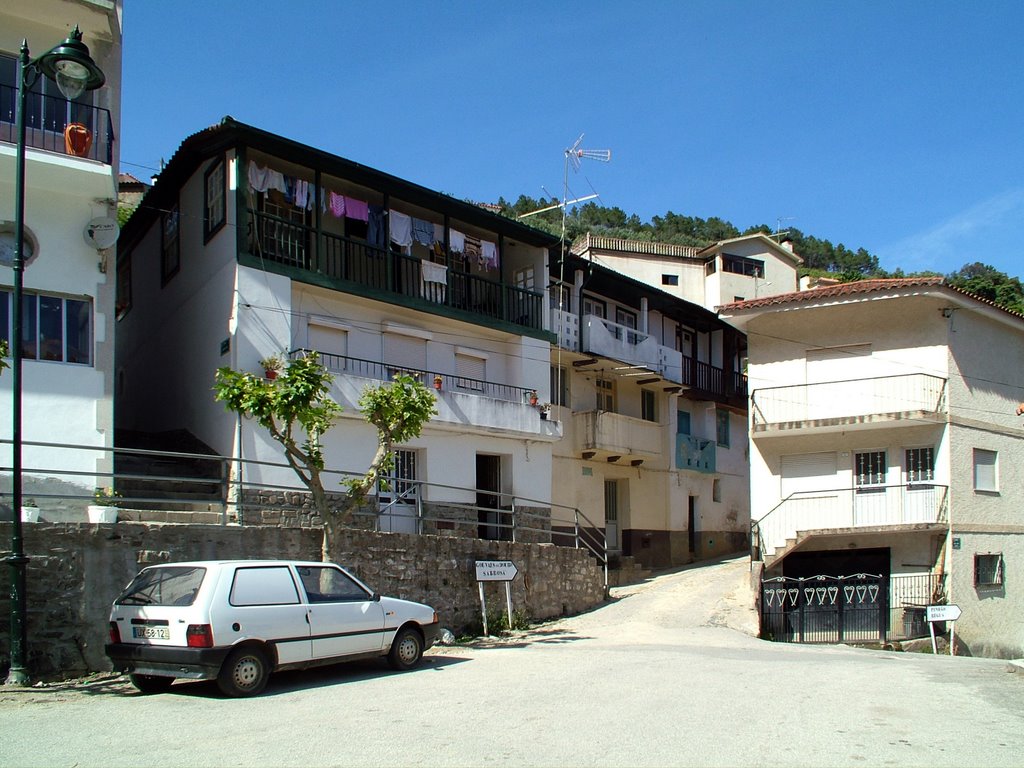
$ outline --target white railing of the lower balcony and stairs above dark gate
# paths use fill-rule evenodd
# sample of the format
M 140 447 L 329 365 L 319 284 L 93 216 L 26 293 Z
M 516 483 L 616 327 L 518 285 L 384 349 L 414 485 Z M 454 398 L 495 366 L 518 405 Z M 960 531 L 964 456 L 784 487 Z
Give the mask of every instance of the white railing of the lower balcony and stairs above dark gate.
M 878 485 L 803 490 L 752 523 L 753 546 L 773 555 L 801 530 L 939 523 L 946 520 L 946 486 Z

